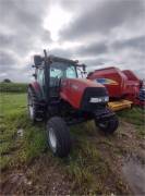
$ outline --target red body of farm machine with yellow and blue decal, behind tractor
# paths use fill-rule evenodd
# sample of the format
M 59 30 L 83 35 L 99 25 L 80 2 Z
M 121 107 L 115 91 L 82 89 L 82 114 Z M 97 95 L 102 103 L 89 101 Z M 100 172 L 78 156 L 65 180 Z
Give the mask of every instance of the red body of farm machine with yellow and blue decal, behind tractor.
M 118 68 L 95 70 L 87 78 L 106 86 L 112 101 L 126 99 L 134 105 L 145 106 L 145 90 L 141 81 L 132 71 Z

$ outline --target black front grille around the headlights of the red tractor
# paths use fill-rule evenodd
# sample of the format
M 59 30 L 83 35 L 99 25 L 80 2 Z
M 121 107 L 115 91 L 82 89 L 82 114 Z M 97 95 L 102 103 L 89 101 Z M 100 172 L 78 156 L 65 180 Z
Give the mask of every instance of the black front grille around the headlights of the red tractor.
M 83 111 L 92 112 L 106 108 L 107 105 L 106 102 L 98 102 L 98 103 L 89 102 L 92 97 L 99 98 L 105 96 L 108 96 L 108 93 L 105 87 L 87 87 L 83 95 L 81 109 Z

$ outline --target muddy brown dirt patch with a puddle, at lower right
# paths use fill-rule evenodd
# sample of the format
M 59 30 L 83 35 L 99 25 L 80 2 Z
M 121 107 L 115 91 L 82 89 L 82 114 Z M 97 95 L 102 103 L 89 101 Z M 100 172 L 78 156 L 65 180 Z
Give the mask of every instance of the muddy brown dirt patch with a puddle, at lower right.
M 114 194 L 145 195 L 145 143 L 136 138 L 134 125 L 120 121 L 119 131 L 113 136 L 106 139 L 104 135 L 97 134 L 97 137 L 96 148 L 108 162 L 112 173 L 106 185 L 111 187 Z

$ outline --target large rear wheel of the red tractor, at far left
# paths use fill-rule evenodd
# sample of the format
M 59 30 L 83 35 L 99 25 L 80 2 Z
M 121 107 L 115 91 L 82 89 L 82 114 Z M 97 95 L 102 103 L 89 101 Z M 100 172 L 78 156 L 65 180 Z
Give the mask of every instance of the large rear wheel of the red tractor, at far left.
M 39 122 L 44 120 L 45 110 L 40 106 L 33 88 L 27 90 L 28 114 L 33 122 Z

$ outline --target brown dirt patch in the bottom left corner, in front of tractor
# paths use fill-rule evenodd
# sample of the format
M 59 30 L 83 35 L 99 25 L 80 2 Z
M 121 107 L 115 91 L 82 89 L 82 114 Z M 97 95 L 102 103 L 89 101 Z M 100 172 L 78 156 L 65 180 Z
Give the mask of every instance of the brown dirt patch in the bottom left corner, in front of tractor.
M 11 172 L 11 171 L 10 171 Z M 3 195 L 69 195 L 70 183 L 67 181 L 60 166 L 50 160 L 49 155 L 43 155 L 31 166 L 7 172 L 1 184 Z

